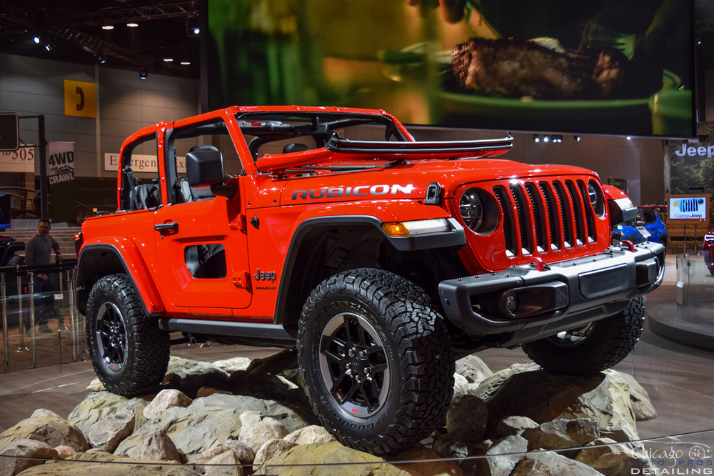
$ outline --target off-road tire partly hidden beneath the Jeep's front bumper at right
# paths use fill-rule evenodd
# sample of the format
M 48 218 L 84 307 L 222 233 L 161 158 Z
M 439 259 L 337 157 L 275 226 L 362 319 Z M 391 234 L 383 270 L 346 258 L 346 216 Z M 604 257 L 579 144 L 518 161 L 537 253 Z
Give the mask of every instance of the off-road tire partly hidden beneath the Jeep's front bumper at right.
M 610 317 L 593 322 L 580 342 L 565 345 L 557 337 L 523 344 L 523 352 L 550 372 L 590 375 L 609 369 L 635 348 L 645 323 L 643 297 L 630 301 Z

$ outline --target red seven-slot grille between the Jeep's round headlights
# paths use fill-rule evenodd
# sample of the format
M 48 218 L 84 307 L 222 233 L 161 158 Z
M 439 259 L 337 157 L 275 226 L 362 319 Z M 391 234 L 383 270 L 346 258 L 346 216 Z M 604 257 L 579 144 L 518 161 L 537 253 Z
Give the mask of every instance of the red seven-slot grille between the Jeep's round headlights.
M 595 243 L 595 210 L 580 179 L 496 185 L 509 257 L 545 254 Z

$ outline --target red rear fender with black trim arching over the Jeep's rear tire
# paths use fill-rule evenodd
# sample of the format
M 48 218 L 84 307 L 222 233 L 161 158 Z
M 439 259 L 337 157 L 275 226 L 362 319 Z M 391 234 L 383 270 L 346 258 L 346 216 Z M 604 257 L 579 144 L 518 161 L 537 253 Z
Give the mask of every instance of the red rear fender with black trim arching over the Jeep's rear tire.
M 114 254 L 123 269 L 109 264 L 106 252 Z M 104 254 L 104 256 L 103 256 Z M 108 274 L 125 272 L 131 277 L 136 290 L 139 292 L 144 312 L 149 315 L 161 315 L 166 312 L 161 294 L 151 279 L 149 267 L 146 266 L 144 257 L 139 252 L 136 243 L 126 237 L 102 237 L 100 240 L 85 242 L 79 252 L 77 262 L 77 306 L 86 313 L 86 302 L 89 298 L 91 287 L 86 286 L 91 277 L 104 277 Z M 91 283 L 90 283 L 91 284 Z

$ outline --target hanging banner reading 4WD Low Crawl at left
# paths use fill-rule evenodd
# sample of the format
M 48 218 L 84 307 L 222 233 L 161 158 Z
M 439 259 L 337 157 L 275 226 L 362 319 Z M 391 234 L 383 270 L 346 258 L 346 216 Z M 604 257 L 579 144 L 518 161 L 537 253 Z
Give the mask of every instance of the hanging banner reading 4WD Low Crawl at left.
M 47 158 L 50 214 L 55 223 L 77 219 L 74 199 L 74 142 L 50 142 Z

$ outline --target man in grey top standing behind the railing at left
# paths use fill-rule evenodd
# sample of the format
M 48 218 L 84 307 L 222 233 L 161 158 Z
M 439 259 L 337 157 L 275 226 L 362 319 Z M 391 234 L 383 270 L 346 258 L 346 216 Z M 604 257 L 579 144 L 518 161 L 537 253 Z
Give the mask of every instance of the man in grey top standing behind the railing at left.
M 28 266 L 51 264 L 53 251 L 55 261 L 61 263 L 59 243 L 49 236 L 49 220 L 42 218 L 37 224 L 37 234 L 25 245 L 25 264 Z M 36 322 L 39 323 L 39 332 L 49 334 L 52 330 L 47 325 L 47 321 L 54 317 L 54 279 L 49 274 L 35 274 L 34 285 L 35 296 L 40 296 L 35 298 L 35 315 Z M 29 331 L 29 314 L 25 320 L 25 328 Z

